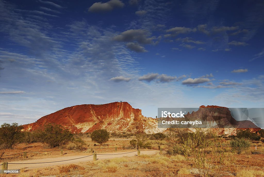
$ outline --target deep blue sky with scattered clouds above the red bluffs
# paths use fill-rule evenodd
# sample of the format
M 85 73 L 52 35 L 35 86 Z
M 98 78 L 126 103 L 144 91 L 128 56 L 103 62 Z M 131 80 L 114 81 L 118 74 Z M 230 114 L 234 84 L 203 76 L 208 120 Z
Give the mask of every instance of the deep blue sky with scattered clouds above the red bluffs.
M 0 0 L 0 124 L 79 104 L 264 106 L 263 1 Z

